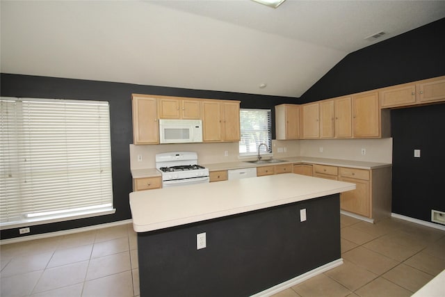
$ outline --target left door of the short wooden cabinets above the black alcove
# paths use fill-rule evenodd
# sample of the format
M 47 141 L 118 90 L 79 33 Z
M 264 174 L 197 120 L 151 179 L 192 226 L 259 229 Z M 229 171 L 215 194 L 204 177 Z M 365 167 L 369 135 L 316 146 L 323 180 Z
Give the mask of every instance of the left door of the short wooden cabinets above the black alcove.
M 384 88 L 380 91 L 382 109 L 411 104 L 416 104 L 416 85 L 414 83 Z

